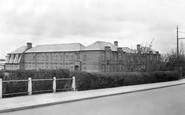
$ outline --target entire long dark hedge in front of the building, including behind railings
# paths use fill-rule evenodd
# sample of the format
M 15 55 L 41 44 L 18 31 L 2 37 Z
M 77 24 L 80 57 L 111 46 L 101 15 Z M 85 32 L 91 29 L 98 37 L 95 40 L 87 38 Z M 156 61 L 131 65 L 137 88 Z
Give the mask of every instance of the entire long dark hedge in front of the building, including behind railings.
M 156 82 L 165 82 L 178 80 L 176 71 L 157 71 L 157 72 L 116 72 L 116 73 L 88 73 L 81 71 L 69 70 L 39 70 L 26 71 L 18 70 L 9 72 L 8 76 L 0 71 L 0 77 L 3 80 L 18 80 L 18 79 L 49 79 L 53 77 L 68 78 L 75 76 L 76 88 L 78 91 L 92 90 L 101 88 L 111 88 L 128 85 L 138 85 Z M 57 88 L 68 88 L 71 86 L 71 81 L 57 81 Z M 33 91 L 52 90 L 52 81 L 33 82 Z M 27 91 L 27 82 L 6 83 L 3 84 L 3 93 L 25 92 Z

